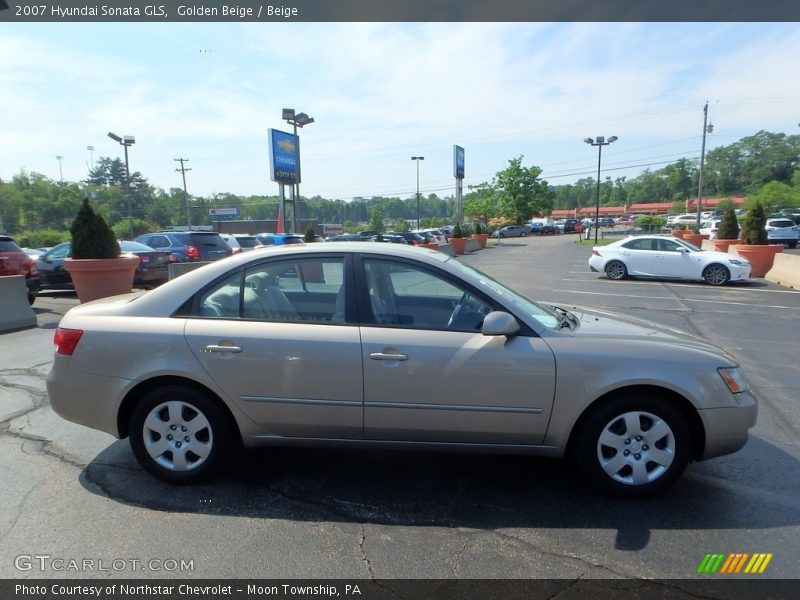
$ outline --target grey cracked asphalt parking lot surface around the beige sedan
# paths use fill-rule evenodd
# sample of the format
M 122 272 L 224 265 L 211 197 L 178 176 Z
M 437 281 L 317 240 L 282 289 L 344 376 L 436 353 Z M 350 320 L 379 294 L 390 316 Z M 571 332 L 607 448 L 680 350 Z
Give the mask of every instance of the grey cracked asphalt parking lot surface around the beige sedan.
M 110 576 L 20 569 L 36 554 L 127 560 L 111 573 L 123 578 L 691 578 L 709 552 L 771 552 L 764 577 L 800 577 L 800 292 L 609 281 L 576 239 L 503 240 L 463 260 L 531 297 L 731 352 L 761 400 L 742 451 L 643 501 L 598 495 L 561 461 L 416 452 L 248 452 L 213 484 L 173 487 L 127 441 L 50 410 L 53 329 L 76 300 L 48 293 L 38 328 L 0 334 L 0 578 Z M 191 568 L 166 573 L 170 560 Z

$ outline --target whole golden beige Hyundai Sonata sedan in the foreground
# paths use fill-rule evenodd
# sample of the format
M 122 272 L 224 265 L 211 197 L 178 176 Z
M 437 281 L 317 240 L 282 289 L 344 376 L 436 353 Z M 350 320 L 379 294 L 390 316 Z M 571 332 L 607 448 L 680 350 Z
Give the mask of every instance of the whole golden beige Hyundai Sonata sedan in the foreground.
M 568 455 L 638 495 L 745 444 L 756 399 L 719 349 L 389 246 L 247 253 L 75 307 L 55 336 L 51 404 L 130 437 L 175 483 L 208 476 L 241 439 Z

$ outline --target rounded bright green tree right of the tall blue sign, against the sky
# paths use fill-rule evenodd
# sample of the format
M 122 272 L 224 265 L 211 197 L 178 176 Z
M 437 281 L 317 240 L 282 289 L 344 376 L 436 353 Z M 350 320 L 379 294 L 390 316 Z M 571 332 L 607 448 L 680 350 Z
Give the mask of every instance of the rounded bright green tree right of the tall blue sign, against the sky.
M 554 193 L 546 181 L 539 179 L 539 167 L 523 167 L 523 157 L 508 161 L 508 167 L 499 171 L 494 187 L 500 194 L 503 213 L 515 223 L 522 223 L 534 214 L 548 215 L 553 210 Z

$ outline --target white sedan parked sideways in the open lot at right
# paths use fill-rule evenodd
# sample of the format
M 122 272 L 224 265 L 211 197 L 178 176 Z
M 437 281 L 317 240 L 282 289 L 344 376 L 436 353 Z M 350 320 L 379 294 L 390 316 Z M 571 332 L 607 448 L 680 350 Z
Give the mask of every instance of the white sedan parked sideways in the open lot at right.
M 609 279 L 654 277 L 723 285 L 750 277 L 749 261 L 733 254 L 700 250 L 667 235 L 631 236 L 608 246 L 595 246 L 589 267 Z

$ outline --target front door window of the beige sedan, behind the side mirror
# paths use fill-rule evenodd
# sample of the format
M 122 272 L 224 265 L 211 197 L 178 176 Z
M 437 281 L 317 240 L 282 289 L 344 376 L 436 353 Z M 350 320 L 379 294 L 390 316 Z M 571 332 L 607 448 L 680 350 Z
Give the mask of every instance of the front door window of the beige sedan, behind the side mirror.
M 387 260 L 365 260 L 364 277 L 375 325 L 478 331 L 491 305 L 446 277 Z

